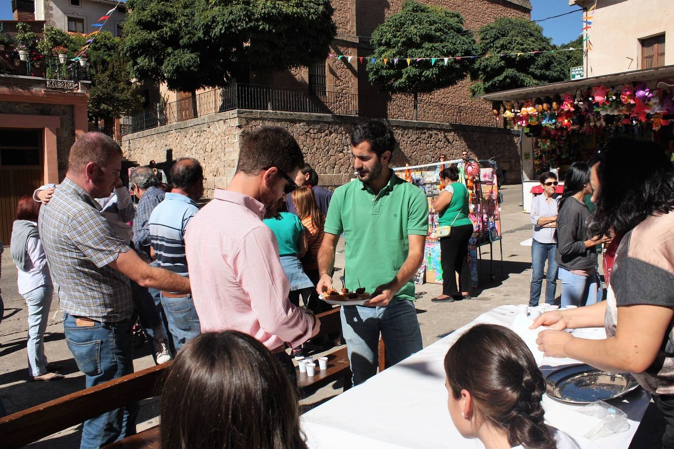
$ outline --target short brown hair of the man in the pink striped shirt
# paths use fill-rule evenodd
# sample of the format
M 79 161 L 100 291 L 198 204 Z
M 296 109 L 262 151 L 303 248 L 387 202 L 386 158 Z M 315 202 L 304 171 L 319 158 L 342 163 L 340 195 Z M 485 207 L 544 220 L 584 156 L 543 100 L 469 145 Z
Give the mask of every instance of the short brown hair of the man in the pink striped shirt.
M 278 126 L 262 126 L 242 133 L 237 171 L 257 175 L 271 167 L 286 173 L 304 167 L 304 156 L 295 138 Z

